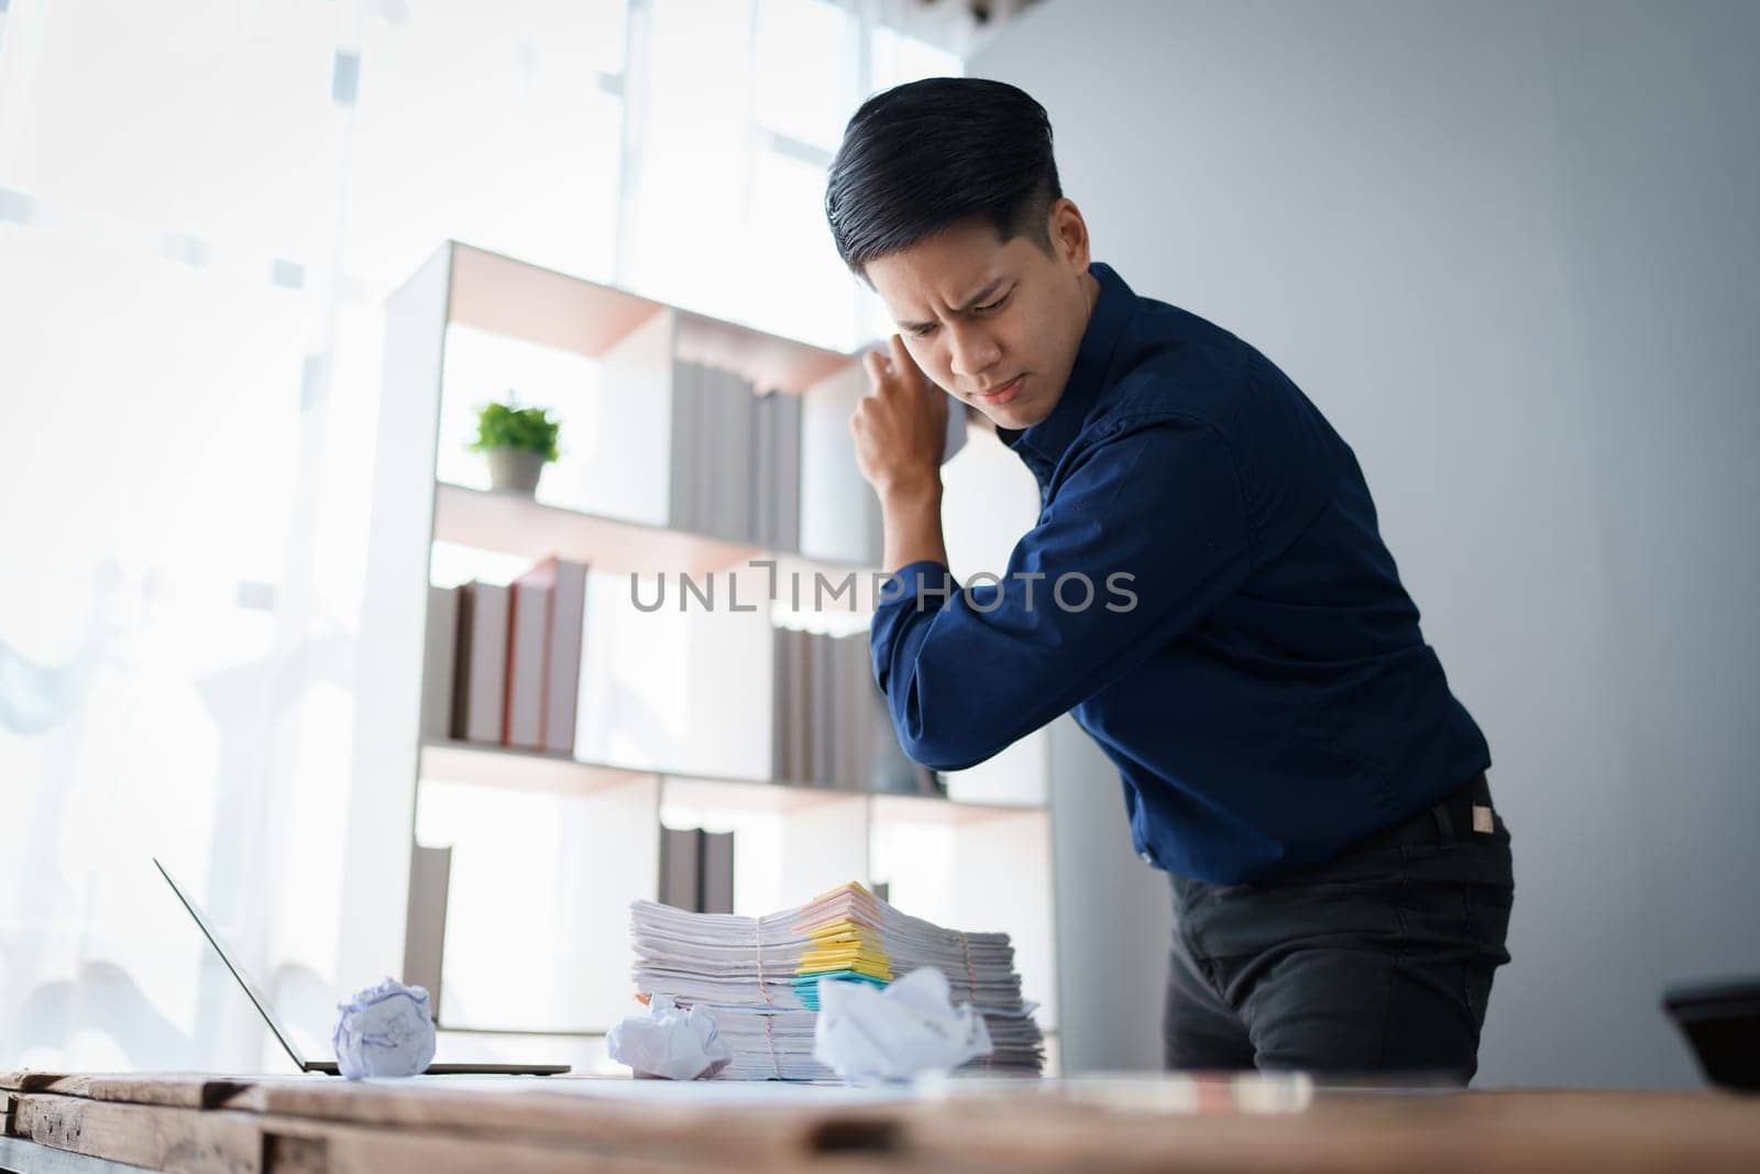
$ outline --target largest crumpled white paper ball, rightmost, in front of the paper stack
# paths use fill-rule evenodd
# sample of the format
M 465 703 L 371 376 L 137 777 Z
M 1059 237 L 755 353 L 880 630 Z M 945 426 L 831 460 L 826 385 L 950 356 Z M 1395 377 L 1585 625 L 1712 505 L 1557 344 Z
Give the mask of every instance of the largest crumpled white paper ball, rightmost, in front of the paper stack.
M 956 1009 L 947 975 L 935 966 L 912 970 L 885 987 L 818 982 L 813 1060 L 850 1084 L 952 1072 L 993 1051 L 984 1016 L 970 1003 Z

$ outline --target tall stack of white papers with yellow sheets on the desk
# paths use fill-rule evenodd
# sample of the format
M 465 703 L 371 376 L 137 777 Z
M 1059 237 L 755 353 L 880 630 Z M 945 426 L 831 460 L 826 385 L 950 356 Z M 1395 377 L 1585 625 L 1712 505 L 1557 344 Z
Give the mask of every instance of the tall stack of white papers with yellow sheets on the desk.
M 832 1079 L 813 1060 L 822 979 L 884 987 L 920 966 L 947 975 L 954 1003 L 972 1003 L 994 1053 L 972 1063 L 1037 1075 L 1044 1037 L 1007 933 L 961 933 L 908 917 L 857 884 L 766 917 L 686 914 L 635 901 L 635 986 L 681 1007 L 700 1005 L 734 1053 L 718 1079 Z

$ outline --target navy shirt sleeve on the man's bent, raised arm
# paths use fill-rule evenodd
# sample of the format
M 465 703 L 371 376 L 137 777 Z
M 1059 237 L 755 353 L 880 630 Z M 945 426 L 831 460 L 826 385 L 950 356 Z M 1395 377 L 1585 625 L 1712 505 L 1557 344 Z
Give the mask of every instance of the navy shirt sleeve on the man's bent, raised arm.
M 982 762 L 1142 665 L 1234 593 L 1251 525 L 1225 440 L 1200 421 L 1114 421 L 1075 456 L 1001 583 L 901 567 L 869 632 L 905 753 Z M 1169 699 L 1169 704 L 1177 704 Z

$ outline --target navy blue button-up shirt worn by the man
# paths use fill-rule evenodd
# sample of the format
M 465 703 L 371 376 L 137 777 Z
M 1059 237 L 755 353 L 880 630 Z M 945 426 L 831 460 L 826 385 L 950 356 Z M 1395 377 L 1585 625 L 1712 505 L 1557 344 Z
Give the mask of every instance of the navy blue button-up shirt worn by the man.
M 982 583 L 915 561 L 882 593 L 905 752 L 963 769 L 1074 711 L 1137 852 L 1211 884 L 1331 859 L 1485 769 L 1350 447 L 1250 345 L 1091 273 L 1063 398 L 998 429 L 1037 525 Z

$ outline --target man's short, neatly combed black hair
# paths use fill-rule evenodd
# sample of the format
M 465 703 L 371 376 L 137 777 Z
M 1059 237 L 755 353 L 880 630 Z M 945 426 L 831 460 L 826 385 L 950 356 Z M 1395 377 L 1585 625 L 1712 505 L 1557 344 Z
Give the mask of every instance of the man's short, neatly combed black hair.
M 982 218 L 1003 243 L 1047 253 L 1045 216 L 1063 188 L 1045 107 L 982 77 L 928 77 L 876 93 L 850 118 L 825 181 L 825 220 L 854 273 Z

